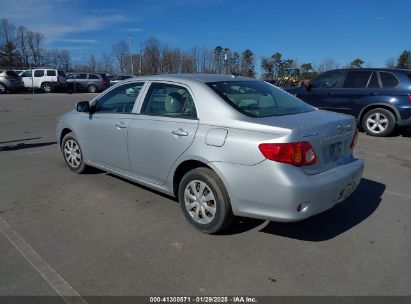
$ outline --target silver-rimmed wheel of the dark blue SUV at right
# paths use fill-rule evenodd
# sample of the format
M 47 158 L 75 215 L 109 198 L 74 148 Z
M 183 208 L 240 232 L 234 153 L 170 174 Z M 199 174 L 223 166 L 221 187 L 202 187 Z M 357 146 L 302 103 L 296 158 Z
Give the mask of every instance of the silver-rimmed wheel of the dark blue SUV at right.
M 376 108 L 365 113 L 362 120 L 364 131 L 371 136 L 384 137 L 395 129 L 395 116 L 386 109 Z

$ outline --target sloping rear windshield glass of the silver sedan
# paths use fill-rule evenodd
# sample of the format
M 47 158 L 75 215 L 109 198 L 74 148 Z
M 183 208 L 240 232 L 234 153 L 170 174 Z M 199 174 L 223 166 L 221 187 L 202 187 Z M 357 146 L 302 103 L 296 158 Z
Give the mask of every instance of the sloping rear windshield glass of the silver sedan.
M 300 99 L 263 81 L 221 81 L 207 85 L 239 112 L 251 117 L 313 111 Z

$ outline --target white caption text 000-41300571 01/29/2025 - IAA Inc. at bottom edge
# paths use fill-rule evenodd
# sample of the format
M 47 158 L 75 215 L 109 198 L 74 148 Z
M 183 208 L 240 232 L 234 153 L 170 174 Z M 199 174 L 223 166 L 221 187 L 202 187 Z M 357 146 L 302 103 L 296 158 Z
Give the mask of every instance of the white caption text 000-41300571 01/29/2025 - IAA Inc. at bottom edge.
M 150 297 L 150 303 L 258 303 L 254 297 L 172 296 Z

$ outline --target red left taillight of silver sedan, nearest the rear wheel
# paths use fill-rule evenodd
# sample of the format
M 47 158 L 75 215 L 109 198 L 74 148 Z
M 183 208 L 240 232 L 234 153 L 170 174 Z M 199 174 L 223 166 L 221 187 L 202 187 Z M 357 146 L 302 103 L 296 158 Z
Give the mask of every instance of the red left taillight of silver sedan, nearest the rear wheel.
M 317 156 L 308 141 L 294 143 L 271 143 L 258 146 L 269 160 L 300 166 L 310 166 L 317 162 Z

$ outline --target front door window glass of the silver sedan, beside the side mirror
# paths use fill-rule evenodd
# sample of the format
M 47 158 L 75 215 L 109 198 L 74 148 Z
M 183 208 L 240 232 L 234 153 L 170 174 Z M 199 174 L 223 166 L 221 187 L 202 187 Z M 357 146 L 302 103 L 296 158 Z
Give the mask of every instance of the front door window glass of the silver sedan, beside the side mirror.
M 131 113 L 144 82 L 128 83 L 103 95 L 96 104 L 95 112 Z

